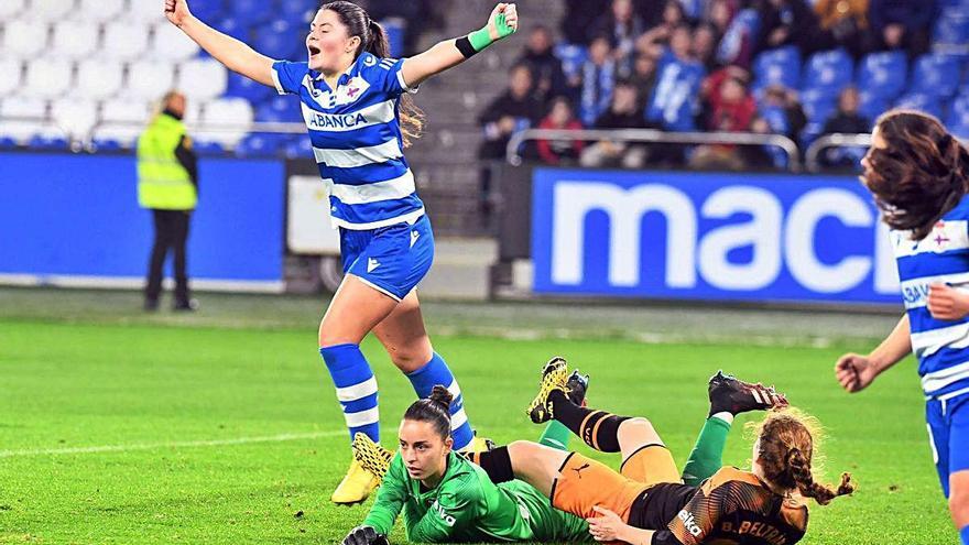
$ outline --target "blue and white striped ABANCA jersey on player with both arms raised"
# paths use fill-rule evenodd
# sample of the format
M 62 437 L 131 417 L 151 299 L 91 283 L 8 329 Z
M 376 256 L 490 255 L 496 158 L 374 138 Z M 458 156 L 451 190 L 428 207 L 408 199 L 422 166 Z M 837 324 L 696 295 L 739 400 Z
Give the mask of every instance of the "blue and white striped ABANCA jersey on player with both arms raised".
M 330 89 L 307 63 L 273 64 L 276 90 L 302 101 L 335 226 L 377 229 L 424 215 L 403 154 L 400 97 L 416 89 L 404 83 L 402 65 L 362 53 Z

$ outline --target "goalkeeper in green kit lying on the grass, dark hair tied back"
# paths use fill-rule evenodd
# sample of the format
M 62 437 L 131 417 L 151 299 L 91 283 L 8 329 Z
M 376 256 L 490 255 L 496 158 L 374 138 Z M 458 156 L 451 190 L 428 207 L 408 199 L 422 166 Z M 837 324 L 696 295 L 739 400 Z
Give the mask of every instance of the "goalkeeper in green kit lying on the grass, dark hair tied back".
M 566 395 L 576 406 L 583 404 L 587 380 L 577 372 L 567 380 Z M 734 415 L 786 405 L 773 389 L 721 373 L 710 379 L 709 394 L 709 418 L 684 468 L 684 480 L 694 486 L 720 469 Z M 502 461 L 484 453 L 469 454 L 466 459 L 455 454 L 448 436 L 449 403 L 448 391 L 435 386 L 429 399 L 411 405 L 401 423 L 396 454 L 358 435 L 355 456 L 369 471 L 382 476 L 383 482 L 363 524 L 350 531 L 344 545 L 386 544 L 402 511 L 411 542 L 596 541 L 586 520 L 553 508 L 547 493 L 520 480 L 494 484 L 490 475 L 512 471 L 508 457 Z M 563 450 L 569 434 L 564 425 L 551 422 L 542 444 Z M 586 442 L 597 447 L 595 437 Z

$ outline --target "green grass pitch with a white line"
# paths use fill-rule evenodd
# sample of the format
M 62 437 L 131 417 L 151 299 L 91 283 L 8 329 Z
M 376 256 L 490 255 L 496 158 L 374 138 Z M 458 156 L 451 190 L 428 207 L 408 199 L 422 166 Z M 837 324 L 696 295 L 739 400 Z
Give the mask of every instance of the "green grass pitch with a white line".
M 11 314 L 0 313 L 0 543 L 331 544 L 362 520 L 367 504 L 328 502 L 349 449 L 313 321 L 215 327 Z M 650 417 L 679 464 L 706 415 L 710 373 L 722 367 L 776 383 L 827 426 L 828 480 L 848 470 L 860 487 L 814 506 L 803 543 L 957 541 L 912 361 L 849 396 L 835 384 L 834 360 L 867 346 L 462 335 L 435 345 L 471 423 L 499 443 L 537 437 L 522 410 L 540 366 L 563 355 L 592 375 L 592 405 Z M 379 345 L 364 351 L 392 444 L 413 392 Z M 725 456 L 738 466 L 750 458 L 743 422 Z M 600 459 L 618 465 L 614 455 Z M 391 538 L 403 543 L 400 525 Z

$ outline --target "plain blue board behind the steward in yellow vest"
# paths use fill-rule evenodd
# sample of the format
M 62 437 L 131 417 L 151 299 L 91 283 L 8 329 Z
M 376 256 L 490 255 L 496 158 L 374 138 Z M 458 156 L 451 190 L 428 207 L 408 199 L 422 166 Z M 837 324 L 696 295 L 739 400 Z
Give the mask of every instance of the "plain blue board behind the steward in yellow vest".
M 144 283 L 152 216 L 138 207 L 133 155 L 0 153 L 0 283 Z M 193 286 L 281 291 L 283 163 L 204 157 L 198 166 Z

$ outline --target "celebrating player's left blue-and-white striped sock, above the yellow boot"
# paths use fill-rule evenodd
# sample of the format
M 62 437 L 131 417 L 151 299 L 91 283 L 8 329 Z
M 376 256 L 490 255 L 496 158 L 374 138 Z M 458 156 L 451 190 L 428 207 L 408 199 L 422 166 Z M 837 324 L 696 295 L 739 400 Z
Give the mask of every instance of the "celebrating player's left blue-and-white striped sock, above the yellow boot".
M 359 345 L 336 345 L 319 349 L 326 368 L 337 389 L 337 400 L 344 408 L 344 419 L 353 435 L 366 434 L 380 443 L 380 411 L 377 405 L 377 379 Z

